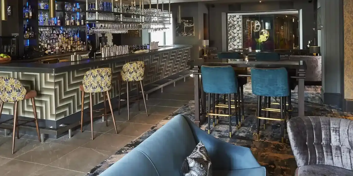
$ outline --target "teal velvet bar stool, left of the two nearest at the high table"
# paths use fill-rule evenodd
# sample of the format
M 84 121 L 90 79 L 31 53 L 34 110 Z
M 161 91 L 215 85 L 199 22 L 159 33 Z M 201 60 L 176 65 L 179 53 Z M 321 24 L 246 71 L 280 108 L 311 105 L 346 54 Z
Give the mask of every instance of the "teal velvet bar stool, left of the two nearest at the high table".
M 232 66 L 201 66 L 202 73 L 202 86 L 205 93 L 208 93 L 208 133 L 211 129 L 211 115 L 213 115 L 213 124 L 215 122 L 215 115 L 229 117 L 229 137 L 232 137 L 232 108 L 235 109 L 235 114 L 237 116 L 238 106 L 237 99 L 235 98 L 235 105 L 231 105 L 231 94 L 237 93 L 238 80 L 235 77 L 234 70 Z M 225 94 L 228 96 L 228 105 L 216 105 L 216 107 L 227 108 L 228 114 L 224 111 L 224 114 L 219 114 L 219 112 L 214 113 L 215 109 L 211 113 L 211 94 Z M 214 102 L 214 101 L 213 101 Z M 238 119 L 238 117 L 236 117 Z M 238 124 L 238 121 L 237 121 Z

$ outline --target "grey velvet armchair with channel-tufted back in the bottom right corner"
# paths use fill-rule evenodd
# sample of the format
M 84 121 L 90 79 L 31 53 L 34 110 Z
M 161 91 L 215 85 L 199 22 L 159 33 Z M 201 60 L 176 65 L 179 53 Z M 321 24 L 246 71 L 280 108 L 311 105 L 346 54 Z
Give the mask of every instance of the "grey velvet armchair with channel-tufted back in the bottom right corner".
M 353 121 L 296 117 L 287 122 L 295 176 L 353 176 Z

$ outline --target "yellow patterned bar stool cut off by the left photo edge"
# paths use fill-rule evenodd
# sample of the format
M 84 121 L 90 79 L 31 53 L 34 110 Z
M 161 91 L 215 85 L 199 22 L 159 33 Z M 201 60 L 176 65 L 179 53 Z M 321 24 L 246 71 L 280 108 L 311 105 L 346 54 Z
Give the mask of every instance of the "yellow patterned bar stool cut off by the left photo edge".
M 17 139 L 19 139 L 19 126 L 27 124 L 29 122 L 35 122 L 37 128 L 37 135 L 38 140 L 41 142 L 41 137 L 39 135 L 39 127 L 37 121 L 37 111 L 36 111 L 36 104 L 34 98 L 37 96 L 37 92 L 35 90 L 27 91 L 22 83 L 12 77 L 0 77 L 0 117 L 2 113 L 2 108 L 4 107 L 5 102 L 13 102 L 14 103 L 14 112 L 13 118 L 0 122 L 0 124 L 13 120 L 13 129 L 12 129 L 12 154 L 14 153 L 15 149 L 15 134 L 17 132 Z M 31 99 L 34 119 L 27 120 L 27 119 L 18 119 L 18 102 L 22 100 Z M 21 124 L 18 121 L 24 121 Z

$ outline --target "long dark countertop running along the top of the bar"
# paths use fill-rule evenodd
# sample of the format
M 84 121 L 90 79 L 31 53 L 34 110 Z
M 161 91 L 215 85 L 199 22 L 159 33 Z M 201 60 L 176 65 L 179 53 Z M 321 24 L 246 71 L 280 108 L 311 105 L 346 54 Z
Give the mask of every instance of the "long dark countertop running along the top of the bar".
M 94 59 L 85 59 L 82 61 L 75 62 L 60 62 L 60 63 L 21 63 L 21 62 L 13 62 L 7 64 L 0 64 L 0 71 L 20 71 L 20 72 L 29 72 L 29 73 L 59 73 L 63 71 L 69 71 L 73 69 L 87 68 L 97 65 L 104 65 L 111 63 L 114 60 L 122 61 L 122 60 L 130 60 L 134 58 L 138 58 L 141 56 L 149 56 L 159 54 L 161 52 L 166 52 L 169 50 L 182 49 L 192 47 L 192 45 L 173 45 L 166 48 L 161 48 L 158 50 L 152 50 L 148 52 L 141 53 L 130 53 L 120 56 L 112 56 L 112 57 L 96 57 Z

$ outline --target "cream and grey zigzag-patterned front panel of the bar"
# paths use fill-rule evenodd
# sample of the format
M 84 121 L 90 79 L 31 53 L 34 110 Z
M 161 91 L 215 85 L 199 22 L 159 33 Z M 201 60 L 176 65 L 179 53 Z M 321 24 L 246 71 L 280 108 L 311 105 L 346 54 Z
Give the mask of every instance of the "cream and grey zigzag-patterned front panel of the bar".
M 81 94 L 79 86 L 82 83 L 86 71 L 102 67 L 112 68 L 113 80 L 111 98 L 118 96 L 118 82 L 116 77 L 120 74 L 122 65 L 131 61 L 145 62 L 144 84 L 149 84 L 168 76 L 177 74 L 189 69 L 187 61 L 190 60 L 191 45 L 179 47 L 177 49 L 162 50 L 160 52 L 151 52 L 138 57 L 129 59 L 110 59 L 103 64 L 90 65 L 90 67 L 79 68 L 60 72 L 56 68 L 54 73 L 29 73 L 18 71 L 2 71 L 0 67 L 0 76 L 9 76 L 17 78 L 22 84 L 32 90 L 36 90 L 38 96 L 35 98 L 38 118 L 46 120 L 59 120 L 81 109 Z M 99 63 L 99 62 L 98 62 Z M 59 63 L 60 64 L 60 63 Z M 87 64 L 86 64 L 87 65 Z M 36 65 L 38 66 L 38 65 Z M 8 68 L 10 70 L 10 68 Z M 68 71 L 66 71 L 68 70 Z M 39 72 L 39 71 L 38 71 Z M 131 88 L 136 88 L 132 84 Z M 126 92 L 126 85 L 122 85 L 122 93 Z M 84 107 L 89 106 L 89 94 L 85 94 Z M 101 93 L 93 94 L 93 105 L 103 102 Z M 13 114 L 13 103 L 5 103 L 2 114 Z M 30 100 L 20 101 L 18 104 L 18 115 L 22 117 L 33 117 L 32 103 Z

